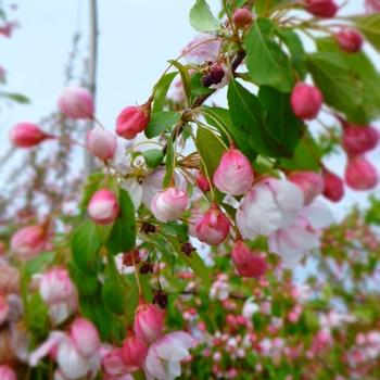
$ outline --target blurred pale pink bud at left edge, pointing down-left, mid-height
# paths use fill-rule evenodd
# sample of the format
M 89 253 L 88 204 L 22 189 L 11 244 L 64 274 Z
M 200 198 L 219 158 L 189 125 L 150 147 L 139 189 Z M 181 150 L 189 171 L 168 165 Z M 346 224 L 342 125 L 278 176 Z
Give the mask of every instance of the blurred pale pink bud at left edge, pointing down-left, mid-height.
M 11 250 L 21 259 L 29 259 L 43 251 L 47 243 L 47 226 L 28 226 L 13 235 Z

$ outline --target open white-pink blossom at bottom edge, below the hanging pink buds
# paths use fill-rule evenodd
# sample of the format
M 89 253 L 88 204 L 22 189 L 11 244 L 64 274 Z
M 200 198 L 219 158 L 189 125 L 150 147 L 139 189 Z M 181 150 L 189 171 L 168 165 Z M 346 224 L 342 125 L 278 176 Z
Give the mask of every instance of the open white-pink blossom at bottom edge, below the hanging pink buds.
M 183 331 L 170 332 L 153 343 L 144 364 L 147 380 L 174 380 L 180 376 L 180 360 L 189 355 L 193 338 Z

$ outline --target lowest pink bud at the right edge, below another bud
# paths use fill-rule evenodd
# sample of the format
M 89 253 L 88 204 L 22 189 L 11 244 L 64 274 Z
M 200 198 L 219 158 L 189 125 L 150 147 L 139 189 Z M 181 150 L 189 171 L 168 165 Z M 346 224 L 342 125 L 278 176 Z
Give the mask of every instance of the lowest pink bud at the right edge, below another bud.
M 353 190 L 371 190 L 379 181 L 376 168 L 363 156 L 349 161 L 344 180 Z

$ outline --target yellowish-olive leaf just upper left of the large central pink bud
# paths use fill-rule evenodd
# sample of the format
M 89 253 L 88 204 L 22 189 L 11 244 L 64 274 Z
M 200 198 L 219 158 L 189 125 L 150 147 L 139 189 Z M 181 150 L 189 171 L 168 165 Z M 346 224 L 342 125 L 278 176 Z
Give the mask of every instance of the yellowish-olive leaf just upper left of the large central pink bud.
M 213 178 L 226 149 L 212 131 L 201 127 L 197 130 L 197 148 L 206 166 L 208 177 Z

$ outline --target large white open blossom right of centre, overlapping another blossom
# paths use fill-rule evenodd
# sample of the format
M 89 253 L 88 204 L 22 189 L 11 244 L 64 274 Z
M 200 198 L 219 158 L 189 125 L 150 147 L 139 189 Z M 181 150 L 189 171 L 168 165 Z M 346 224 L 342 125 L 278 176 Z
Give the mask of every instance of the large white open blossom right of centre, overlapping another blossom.
M 241 199 L 237 211 L 237 226 L 244 239 L 268 236 L 293 224 L 304 195 L 294 183 L 267 177 L 257 182 Z

